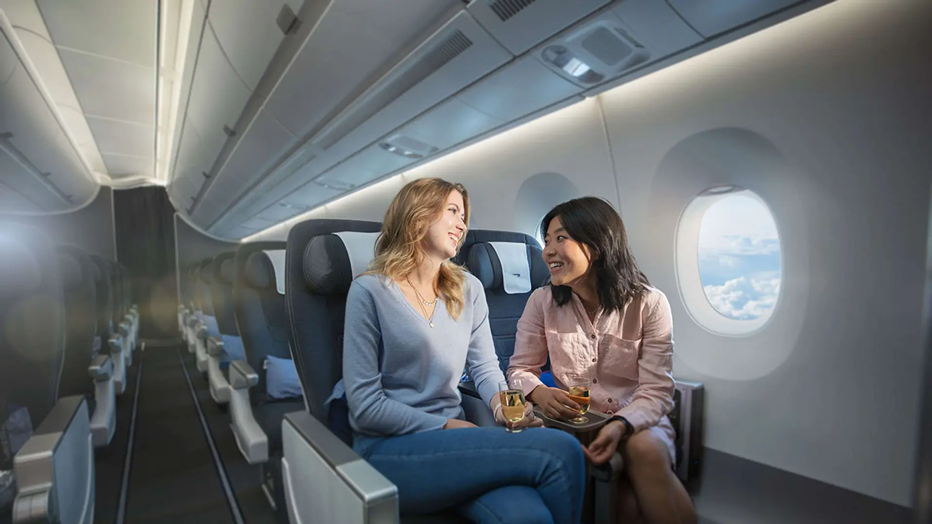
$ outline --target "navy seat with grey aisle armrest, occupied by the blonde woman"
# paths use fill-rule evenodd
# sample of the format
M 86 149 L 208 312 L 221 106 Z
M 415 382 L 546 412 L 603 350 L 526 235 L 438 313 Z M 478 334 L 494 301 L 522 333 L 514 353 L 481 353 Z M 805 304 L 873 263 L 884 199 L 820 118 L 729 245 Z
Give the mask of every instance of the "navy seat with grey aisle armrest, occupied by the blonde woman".
M 320 219 L 299 223 L 288 234 L 285 303 L 292 356 L 308 407 L 285 415 L 282 421 L 281 476 L 292 522 L 395 521 L 399 515 L 397 487 L 335 434 L 325 407 L 343 375 L 343 322 L 349 284 L 366 268 L 375 245 L 374 236 L 346 232 L 379 230 L 377 222 Z M 491 418 L 490 410 L 485 409 Z M 345 424 L 345 415 L 342 419 L 336 425 Z M 330 488 L 313 489 L 321 485 Z M 466 520 L 445 511 L 404 515 L 401 521 Z

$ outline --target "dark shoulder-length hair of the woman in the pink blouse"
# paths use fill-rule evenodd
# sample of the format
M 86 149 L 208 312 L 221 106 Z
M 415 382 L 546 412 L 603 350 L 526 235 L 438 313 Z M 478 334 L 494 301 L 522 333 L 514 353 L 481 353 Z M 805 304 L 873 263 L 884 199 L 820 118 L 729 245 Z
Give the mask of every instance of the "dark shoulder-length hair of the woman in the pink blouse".
M 541 238 L 557 216 L 569 237 L 589 248 L 598 301 L 603 310 L 623 310 L 628 300 L 647 293 L 651 283 L 637 267 L 622 217 L 608 201 L 583 197 L 557 205 L 541 221 Z M 569 286 L 551 284 L 550 288 L 557 306 L 565 305 L 572 298 Z

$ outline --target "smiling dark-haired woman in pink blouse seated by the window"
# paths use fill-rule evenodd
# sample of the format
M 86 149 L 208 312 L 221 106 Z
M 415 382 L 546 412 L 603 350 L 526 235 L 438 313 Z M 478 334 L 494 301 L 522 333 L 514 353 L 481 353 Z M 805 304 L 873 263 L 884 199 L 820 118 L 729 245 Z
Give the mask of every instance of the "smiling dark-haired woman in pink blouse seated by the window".
M 673 318 L 670 304 L 637 268 L 622 217 L 595 197 L 557 205 L 541 223 L 551 284 L 536 290 L 518 321 L 511 379 L 554 419 L 580 406 L 566 391 L 589 387 L 591 407 L 612 415 L 583 448 L 589 459 L 624 456 L 624 522 L 692 523 L 689 494 L 674 473 Z M 550 357 L 557 388 L 541 382 Z

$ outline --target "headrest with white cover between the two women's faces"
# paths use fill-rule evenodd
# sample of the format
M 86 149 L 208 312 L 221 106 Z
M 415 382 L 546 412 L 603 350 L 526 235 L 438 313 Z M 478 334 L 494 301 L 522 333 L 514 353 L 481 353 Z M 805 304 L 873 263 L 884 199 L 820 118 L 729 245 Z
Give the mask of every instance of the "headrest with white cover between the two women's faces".
M 509 295 L 530 293 L 547 281 L 541 249 L 524 242 L 476 242 L 467 266 L 483 287 Z

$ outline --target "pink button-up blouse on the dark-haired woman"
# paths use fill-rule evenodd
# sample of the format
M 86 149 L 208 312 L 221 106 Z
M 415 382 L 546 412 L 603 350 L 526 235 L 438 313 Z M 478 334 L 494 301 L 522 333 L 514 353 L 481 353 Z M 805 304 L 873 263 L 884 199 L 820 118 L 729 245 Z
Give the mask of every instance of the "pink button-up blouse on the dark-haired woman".
M 592 380 L 591 407 L 622 415 L 640 431 L 673 409 L 673 314 L 663 292 L 629 301 L 623 311 L 596 313 L 595 323 L 576 295 L 557 307 L 550 286 L 531 294 L 518 321 L 510 379 L 522 379 L 525 394 L 541 382 L 550 364 L 556 386 L 568 375 Z

